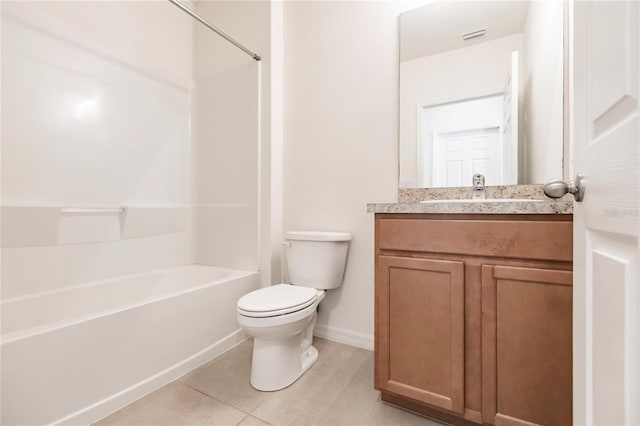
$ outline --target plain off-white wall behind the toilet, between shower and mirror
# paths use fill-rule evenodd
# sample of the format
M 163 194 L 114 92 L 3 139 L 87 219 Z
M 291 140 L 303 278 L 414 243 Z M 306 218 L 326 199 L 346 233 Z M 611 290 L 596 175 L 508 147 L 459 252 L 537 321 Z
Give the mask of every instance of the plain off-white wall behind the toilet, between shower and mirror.
M 402 2 L 284 4 L 284 229 L 353 234 L 318 335 L 372 347 L 373 215 L 398 185 Z

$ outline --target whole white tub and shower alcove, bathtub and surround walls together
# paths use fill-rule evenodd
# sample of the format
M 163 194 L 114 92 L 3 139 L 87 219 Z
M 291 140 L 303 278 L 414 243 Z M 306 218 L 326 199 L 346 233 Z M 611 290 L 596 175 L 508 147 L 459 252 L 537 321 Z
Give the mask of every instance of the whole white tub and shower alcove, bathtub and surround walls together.
M 228 29 L 269 6 L 190 7 Z M 3 424 L 96 421 L 244 339 L 261 74 L 196 24 L 168 1 L 3 2 Z

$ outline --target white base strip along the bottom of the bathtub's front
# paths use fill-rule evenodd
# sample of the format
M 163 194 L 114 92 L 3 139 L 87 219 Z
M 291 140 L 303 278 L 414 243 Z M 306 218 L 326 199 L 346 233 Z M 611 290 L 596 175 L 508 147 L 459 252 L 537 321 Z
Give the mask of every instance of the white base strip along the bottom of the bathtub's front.
M 190 356 L 189 358 L 172 365 L 171 367 L 155 374 L 141 382 L 136 383 L 129 388 L 115 393 L 101 401 L 96 402 L 82 410 L 76 411 L 55 422 L 54 425 L 74 424 L 88 425 L 94 423 L 111 413 L 131 404 L 133 401 L 142 398 L 145 395 L 161 388 L 162 386 L 174 381 L 189 371 L 209 362 L 216 356 L 226 352 L 245 341 L 247 336 L 241 329 L 237 329 L 233 333 L 223 337 L 216 343 L 208 346 L 202 351 Z

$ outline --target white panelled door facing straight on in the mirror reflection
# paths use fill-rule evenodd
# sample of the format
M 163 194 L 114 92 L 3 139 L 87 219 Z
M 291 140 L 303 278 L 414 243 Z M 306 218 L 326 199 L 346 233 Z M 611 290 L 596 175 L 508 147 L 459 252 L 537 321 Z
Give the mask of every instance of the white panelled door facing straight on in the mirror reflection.
M 475 173 L 486 185 L 502 185 L 501 146 L 498 127 L 434 132 L 433 186 L 470 186 Z

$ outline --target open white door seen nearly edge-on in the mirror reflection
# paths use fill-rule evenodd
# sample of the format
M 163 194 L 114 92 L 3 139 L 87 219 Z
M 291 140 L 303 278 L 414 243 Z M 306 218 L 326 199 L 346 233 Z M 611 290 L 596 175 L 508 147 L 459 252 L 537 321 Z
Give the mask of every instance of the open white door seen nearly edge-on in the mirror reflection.
M 518 184 L 518 52 L 511 53 L 511 68 L 507 74 L 502 99 L 502 141 L 504 146 L 504 185 Z M 522 170 L 520 171 L 522 173 Z

